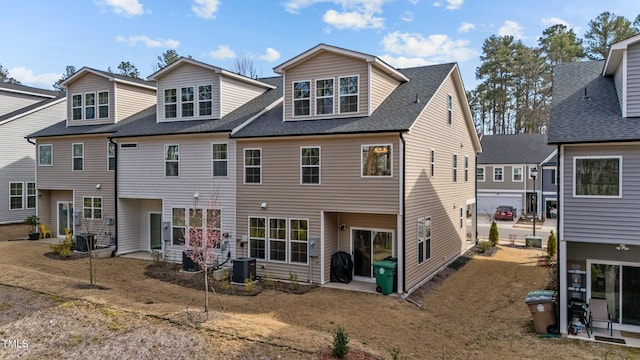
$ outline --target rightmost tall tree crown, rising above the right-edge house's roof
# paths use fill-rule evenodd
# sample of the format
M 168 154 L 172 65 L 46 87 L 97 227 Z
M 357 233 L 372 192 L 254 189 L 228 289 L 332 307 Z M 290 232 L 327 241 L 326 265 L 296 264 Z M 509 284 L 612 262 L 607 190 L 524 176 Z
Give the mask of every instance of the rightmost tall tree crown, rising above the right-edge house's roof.
M 587 55 L 593 60 L 605 59 L 611 44 L 636 34 L 638 29 L 634 28 L 627 18 L 605 11 L 589 21 L 589 31 L 584 34 L 587 40 Z

